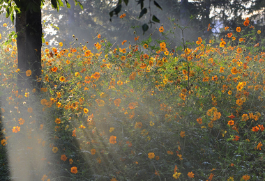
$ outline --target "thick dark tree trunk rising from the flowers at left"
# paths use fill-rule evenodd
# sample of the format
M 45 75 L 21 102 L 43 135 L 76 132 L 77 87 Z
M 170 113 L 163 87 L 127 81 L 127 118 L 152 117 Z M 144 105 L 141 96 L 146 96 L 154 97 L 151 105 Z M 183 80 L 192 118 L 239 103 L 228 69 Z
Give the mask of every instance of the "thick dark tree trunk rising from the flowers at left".
M 41 46 L 42 25 L 40 0 L 34 1 L 38 5 L 34 10 L 21 10 L 16 16 L 15 27 L 17 31 L 17 67 L 20 74 L 17 77 L 19 88 L 36 88 L 40 91 L 41 77 Z M 26 71 L 31 70 L 27 77 Z

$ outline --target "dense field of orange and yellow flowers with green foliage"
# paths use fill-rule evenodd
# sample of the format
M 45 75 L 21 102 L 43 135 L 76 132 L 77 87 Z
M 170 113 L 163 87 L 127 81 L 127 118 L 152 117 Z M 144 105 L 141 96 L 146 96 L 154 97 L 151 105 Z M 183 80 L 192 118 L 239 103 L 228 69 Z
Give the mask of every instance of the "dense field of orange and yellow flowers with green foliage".
M 158 39 L 46 42 L 40 93 L 16 87 L 31 71 L 17 70 L 15 40 L 1 44 L 1 180 L 265 178 L 261 32 L 245 19 L 170 47 L 185 33 L 170 21 Z

